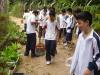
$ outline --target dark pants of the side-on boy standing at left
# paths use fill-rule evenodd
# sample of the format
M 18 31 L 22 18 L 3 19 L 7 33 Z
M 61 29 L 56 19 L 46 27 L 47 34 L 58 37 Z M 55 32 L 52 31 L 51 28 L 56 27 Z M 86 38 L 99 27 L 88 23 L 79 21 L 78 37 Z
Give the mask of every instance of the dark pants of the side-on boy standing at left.
M 35 48 L 36 48 L 36 33 L 27 34 L 25 55 L 29 55 L 29 52 L 31 50 L 31 56 L 34 56 Z

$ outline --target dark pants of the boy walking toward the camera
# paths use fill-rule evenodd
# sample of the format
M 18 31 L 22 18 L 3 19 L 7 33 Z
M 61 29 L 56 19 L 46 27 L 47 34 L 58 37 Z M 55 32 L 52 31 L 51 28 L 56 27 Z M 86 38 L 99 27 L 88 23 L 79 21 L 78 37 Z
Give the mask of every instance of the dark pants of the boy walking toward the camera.
M 51 61 L 51 56 L 56 53 L 56 40 L 45 40 L 46 60 Z

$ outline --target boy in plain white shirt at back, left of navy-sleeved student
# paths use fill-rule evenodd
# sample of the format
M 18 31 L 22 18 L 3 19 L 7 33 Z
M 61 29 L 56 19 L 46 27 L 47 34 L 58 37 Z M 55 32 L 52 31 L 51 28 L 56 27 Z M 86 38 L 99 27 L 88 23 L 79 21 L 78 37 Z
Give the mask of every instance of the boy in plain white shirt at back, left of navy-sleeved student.
M 64 22 L 67 19 L 66 16 L 66 10 L 62 9 L 61 14 L 58 16 L 58 22 L 60 25 L 60 31 L 59 31 L 59 40 L 61 40 L 61 37 L 66 37 L 66 23 Z M 64 39 L 65 42 L 65 39 Z

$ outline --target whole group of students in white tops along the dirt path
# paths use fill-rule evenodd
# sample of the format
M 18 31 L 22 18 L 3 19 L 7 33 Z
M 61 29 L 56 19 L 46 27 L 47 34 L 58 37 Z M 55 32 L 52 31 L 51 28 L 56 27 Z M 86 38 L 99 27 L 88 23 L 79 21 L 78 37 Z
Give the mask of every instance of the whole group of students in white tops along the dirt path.
M 67 45 L 72 40 L 74 27 L 77 26 L 78 40 L 72 58 L 70 73 L 72 75 L 100 75 L 100 37 L 92 29 L 92 15 L 80 9 L 72 11 L 71 8 L 63 9 L 59 15 L 54 8 L 34 10 L 24 15 L 25 31 L 27 35 L 25 56 L 37 57 L 36 31 L 39 25 L 38 37 L 44 37 L 46 49 L 46 64 L 53 62 L 56 54 L 57 41 Z M 57 34 L 59 36 L 57 39 Z

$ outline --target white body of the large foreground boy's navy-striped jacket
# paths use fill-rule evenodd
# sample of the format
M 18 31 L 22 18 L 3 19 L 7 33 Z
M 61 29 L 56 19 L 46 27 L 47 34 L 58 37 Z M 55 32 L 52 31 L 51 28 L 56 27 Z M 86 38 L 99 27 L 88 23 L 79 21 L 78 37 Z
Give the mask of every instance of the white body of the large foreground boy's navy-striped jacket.
M 70 73 L 75 75 L 83 75 L 84 70 L 89 66 L 89 62 L 93 61 L 93 58 L 100 53 L 99 47 L 97 45 L 97 34 L 93 30 L 91 31 L 90 35 L 86 38 L 83 37 L 83 32 L 79 35 L 75 53 L 72 58 L 72 64 Z M 98 36 L 99 37 L 99 36 Z M 100 43 L 100 38 L 99 38 Z M 93 55 L 94 49 L 94 55 Z M 98 69 L 100 69 L 100 57 L 96 61 Z M 92 71 L 92 75 L 93 71 Z

